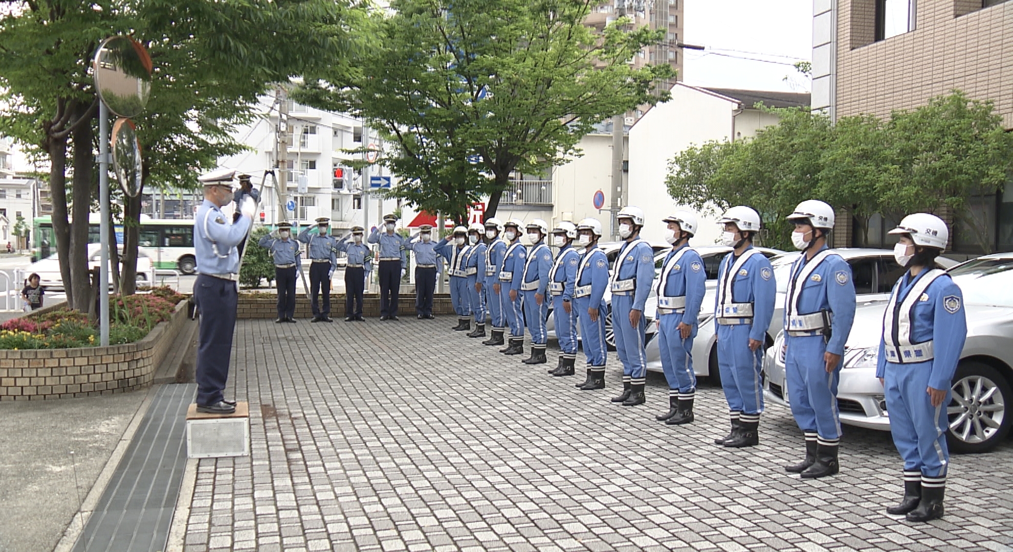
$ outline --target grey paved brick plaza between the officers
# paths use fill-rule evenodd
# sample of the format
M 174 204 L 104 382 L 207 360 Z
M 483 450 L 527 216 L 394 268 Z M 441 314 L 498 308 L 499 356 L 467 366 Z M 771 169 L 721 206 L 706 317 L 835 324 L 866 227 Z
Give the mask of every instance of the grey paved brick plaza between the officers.
M 200 461 L 187 551 L 1011 550 L 1013 443 L 955 456 L 946 518 L 912 525 L 884 511 L 886 432 L 846 426 L 841 475 L 803 481 L 782 469 L 802 447 L 786 408 L 768 406 L 760 447 L 724 449 L 706 384 L 697 421 L 670 426 L 660 377 L 645 406 L 609 402 L 614 353 L 608 388 L 577 391 L 451 317 L 337 320 L 239 322 L 252 456 Z

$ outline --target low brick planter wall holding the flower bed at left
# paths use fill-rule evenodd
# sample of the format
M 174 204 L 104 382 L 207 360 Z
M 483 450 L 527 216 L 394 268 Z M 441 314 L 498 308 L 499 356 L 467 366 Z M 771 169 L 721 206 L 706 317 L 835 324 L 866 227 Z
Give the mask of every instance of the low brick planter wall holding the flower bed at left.
M 56 307 L 58 305 L 52 308 Z M 148 335 L 134 343 L 107 347 L 2 349 L 0 401 L 89 397 L 147 387 L 185 321 L 186 302 L 180 301 L 170 320 L 158 323 Z

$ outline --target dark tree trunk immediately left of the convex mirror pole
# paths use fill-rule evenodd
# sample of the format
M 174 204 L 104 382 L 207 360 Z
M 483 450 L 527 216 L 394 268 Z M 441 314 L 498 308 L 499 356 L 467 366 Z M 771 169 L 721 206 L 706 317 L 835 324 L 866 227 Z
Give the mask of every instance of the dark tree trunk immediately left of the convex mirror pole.
M 82 112 L 87 106 L 79 107 Z M 91 121 L 82 121 L 71 133 L 74 142 L 73 221 L 70 229 L 70 282 L 75 308 L 87 305 L 88 285 L 88 215 L 91 212 L 91 176 L 95 168 L 94 138 Z M 68 294 L 68 299 L 71 296 Z M 88 308 L 88 307 L 84 307 Z

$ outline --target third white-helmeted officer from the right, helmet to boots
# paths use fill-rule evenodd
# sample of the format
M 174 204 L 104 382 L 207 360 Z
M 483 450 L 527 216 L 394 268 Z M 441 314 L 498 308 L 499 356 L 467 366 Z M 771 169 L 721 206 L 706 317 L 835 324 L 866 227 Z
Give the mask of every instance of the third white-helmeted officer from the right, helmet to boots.
M 742 448 L 760 444 L 763 390 L 763 345 L 774 316 L 777 284 L 770 261 L 753 248 L 760 231 L 760 215 L 745 206 L 729 209 L 718 221 L 724 225 L 721 242 L 732 247 L 718 267 L 715 320 L 717 366 L 728 402 L 731 432 L 714 445 Z

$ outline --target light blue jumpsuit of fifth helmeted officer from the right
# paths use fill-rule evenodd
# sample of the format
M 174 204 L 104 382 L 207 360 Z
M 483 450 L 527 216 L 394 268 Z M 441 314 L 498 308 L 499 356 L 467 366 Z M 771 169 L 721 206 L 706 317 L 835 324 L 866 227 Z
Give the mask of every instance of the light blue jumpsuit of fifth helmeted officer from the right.
M 632 281 L 632 288 L 619 290 L 623 282 Z M 654 282 L 654 250 L 639 239 L 623 245 L 612 271 L 612 330 L 616 337 L 616 352 L 623 363 L 623 384 L 642 386 L 647 381 L 647 354 L 644 337 L 647 330 L 643 305 L 647 302 Z M 641 313 L 640 322 L 630 325 L 630 311 Z

